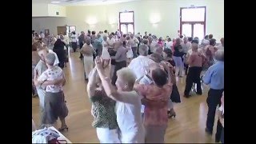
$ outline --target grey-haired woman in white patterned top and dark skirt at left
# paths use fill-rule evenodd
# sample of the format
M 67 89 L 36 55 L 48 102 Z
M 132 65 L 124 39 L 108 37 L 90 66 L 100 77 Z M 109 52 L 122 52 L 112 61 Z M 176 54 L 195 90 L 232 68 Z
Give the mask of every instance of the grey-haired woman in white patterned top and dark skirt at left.
M 54 122 L 60 118 L 62 126 L 60 131 L 68 130 L 66 126 L 65 118 L 68 110 L 63 94 L 63 88 L 66 80 L 62 69 L 58 66 L 54 66 L 55 55 L 46 54 L 46 66 L 47 70 L 44 71 L 39 77 L 35 74 L 34 83 L 36 86 L 46 85 L 46 95 L 44 101 L 44 111 L 42 114 L 43 126 L 53 125 Z

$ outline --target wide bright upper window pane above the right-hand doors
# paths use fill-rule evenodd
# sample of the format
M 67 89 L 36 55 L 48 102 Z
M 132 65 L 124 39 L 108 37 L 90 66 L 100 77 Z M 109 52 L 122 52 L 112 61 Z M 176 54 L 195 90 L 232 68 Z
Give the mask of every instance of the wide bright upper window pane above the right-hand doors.
M 182 9 L 182 22 L 204 22 L 205 8 Z

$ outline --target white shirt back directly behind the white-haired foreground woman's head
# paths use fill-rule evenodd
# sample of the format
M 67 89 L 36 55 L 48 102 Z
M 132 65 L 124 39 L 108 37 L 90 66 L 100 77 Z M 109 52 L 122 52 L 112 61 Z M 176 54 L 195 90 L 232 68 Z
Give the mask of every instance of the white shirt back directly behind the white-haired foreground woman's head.
M 130 62 L 128 67 L 134 72 L 136 78 L 138 79 L 147 74 L 151 63 L 154 63 L 152 59 L 139 55 Z

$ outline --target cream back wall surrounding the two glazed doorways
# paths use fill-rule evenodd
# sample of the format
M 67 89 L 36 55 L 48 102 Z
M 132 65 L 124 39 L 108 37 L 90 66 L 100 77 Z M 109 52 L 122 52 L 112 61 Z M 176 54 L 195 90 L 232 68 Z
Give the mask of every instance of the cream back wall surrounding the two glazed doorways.
M 224 36 L 224 0 L 141 0 L 106 6 L 66 6 L 66 21 L 54 23 L 48 21 L 46 27 L 52 24 L 62 24 L 59 26 L 67 24 L 77 26 L 78 32 L 88 29 L 115 31 L 118 29 L 119 12 L 134 10 L 135 33 L 143 34 L 144 31 L 148 31 L 158 36 L 170 35 L 174 38 L 179 30 L 180 7 L 191 5 L 206 6 L 206 34 L 214 34 L 217 40 L 222 38 Z M 160 18 L 157 25 L 150 22 L 152 17 Z M 57 30 L 54 31 L 57 33 Z

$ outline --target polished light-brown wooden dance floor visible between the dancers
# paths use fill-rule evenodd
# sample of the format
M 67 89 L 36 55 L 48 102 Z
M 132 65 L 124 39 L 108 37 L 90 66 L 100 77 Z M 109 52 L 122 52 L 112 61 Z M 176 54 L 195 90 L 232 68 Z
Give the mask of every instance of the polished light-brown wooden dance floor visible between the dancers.
M 66 118 L 69 130 L 63 132 L 71 142 L 97 142 L 98 138 L 95 129 L 91 126 L 93 117 L 90 114 L 90 102 L 86 94 L 86 82 L 84 80 L 84 70 L 79 54 L 70 54 L 70 62 L 64 69 L 66 74 L 66 86 L 64 93 L 67 106 L 70 110 Z M 178 90 L 182 96 L 185 89 L 185 78 L 178 82 Z M 203 91 L 201 96 L 183 98 L 182 102 L 174 104 L 176 118 L 170 119 L 166 130 L 165 141 L 168 143 L 212 143 L 216 130 L 214 123 L 214 134 L 209 136 L 205 133 L 206 126 L 206 95 Z M 38 98 L 32 98 L 32 116 L 36 125 L 39 125 L 39 104 Z M 216 117 L 217 118 L 217 117 Z M 60 126 L 60 122 L 57 124 Z

